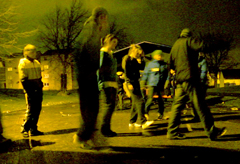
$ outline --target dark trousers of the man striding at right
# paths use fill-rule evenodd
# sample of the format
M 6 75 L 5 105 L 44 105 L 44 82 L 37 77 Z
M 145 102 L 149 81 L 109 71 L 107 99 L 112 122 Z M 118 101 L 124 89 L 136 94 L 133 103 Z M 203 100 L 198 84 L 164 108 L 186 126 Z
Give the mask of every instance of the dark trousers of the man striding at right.
M 210 109 L 207 107 L 203 93 L 201 92 L 200 84 L 192 84 L 189 82 L 183 82 L 177 84 L 175 90 L 175 97 L 172 103 L 171 116 L 168 124 L 168 135 L 174 136 L 178 133 L 181 111 L 185 108 L 187 101 L 190 99 L 200 120 L 204 126 L 204 130 L 207 135 L 214 130 L 214 119 Z

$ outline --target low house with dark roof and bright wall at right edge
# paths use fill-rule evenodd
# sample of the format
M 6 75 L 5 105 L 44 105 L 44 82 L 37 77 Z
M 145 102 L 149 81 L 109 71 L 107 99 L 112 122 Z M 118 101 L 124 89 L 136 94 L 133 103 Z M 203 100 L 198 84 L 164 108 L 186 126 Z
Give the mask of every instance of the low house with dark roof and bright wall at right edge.
M 217 76 L 218 87 L 240 85 L 240 69 L 221 70 Z M 214 80 L 209 76 L 209 86 L 214 86 Z

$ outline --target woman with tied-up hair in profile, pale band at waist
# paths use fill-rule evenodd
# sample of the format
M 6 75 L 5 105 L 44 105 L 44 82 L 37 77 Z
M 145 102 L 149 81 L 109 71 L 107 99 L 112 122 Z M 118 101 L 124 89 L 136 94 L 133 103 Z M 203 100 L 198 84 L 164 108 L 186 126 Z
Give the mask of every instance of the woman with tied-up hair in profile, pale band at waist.
M 103 121 L 101 132 L 105 137 L 114 137 L 116 132 L 111 130 L 111 118 L 115 109 L 117 96 L 117 59 L 113 56 L 113 50 L 118 43 L 113 34 L 108 34 L 103 39 L 103 47 L 100 50 L 100 65 L 98 69 L 98 86 L 100 100 L 103 109 Z

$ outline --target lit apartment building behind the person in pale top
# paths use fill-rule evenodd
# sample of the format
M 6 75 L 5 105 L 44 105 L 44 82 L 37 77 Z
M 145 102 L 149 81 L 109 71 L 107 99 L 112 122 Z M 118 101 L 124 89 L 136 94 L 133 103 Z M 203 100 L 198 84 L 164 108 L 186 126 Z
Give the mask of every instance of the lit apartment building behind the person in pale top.
M 41 62 L 43 90 L 61 90 L 63 77 L 66 77 L 67 80 L 67 90 L 77 89 L 73 67 L 67 67 L 66 74 L 63 75 L 63 65 L 58 60 L 56 51 L 46 51 L 44 54 L 38 51 L 38 56 L 38 60 Z M 22 89 L 18 73 L 18 64 L 21 58 L 23 58 L 22 53 L 14 53 L 2 58 L 2 62 L 0 62 L 0 88 Z M 1 65 L 1 63 L 4 64 Z

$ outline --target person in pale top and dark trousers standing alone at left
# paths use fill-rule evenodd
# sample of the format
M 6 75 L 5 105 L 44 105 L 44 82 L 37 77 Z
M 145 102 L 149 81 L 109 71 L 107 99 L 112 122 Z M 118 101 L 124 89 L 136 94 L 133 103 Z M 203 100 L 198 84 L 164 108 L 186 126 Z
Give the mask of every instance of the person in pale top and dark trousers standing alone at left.
M 42 76 L 41 76 L 41 65 L 37 58 L 37 50 L 34 45 L 28 44 L 23 49 L 24 58 L 20 59 L 18 65 L 19 79 L 22 83 L 27 111 L 24 123 L 22 125 L 21 133 L 23 137 L 43 135 L 37 129 L 37 123 L 39 115 L 42 109 Z

